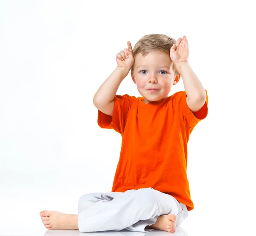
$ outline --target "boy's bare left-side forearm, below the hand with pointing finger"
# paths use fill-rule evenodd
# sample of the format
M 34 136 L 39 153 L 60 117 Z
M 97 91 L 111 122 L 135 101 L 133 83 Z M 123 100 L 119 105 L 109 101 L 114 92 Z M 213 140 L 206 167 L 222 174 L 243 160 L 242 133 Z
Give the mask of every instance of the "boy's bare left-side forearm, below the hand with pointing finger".
M 128 75 L 129 71 L 125 71 L 116 67 L 111 75 L 102 83 L 93 97 L 93 103 L 105 104 L 111 102 L 119 88 L 121 82 Z

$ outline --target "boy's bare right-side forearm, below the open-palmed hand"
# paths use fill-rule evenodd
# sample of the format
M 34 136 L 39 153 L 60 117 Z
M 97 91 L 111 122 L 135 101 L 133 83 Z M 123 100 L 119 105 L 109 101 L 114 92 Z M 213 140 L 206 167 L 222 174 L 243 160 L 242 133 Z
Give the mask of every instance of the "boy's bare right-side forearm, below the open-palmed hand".
M 176 69 L 182 77 L 186 95 L 189 100 L 196 101 L 198 99 L 206 97 L 206 92 L 203 85 L 199 81 L 198 77 L 195 75 L 188 62 L 182 62 L 180 64 L 177 64 Z

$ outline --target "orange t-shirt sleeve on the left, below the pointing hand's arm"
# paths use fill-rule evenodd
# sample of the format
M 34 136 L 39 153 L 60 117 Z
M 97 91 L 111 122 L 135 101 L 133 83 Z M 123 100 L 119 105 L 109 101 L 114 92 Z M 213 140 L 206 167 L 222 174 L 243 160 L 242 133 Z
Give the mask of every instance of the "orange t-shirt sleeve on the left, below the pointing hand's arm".
M 103 129 L 113 129 L 123 135 L 126 119 L 131 105 L 136 100 L 134 96 L 115 95 L 113 115 L 107 115 L 98 110 L 98 125 Z

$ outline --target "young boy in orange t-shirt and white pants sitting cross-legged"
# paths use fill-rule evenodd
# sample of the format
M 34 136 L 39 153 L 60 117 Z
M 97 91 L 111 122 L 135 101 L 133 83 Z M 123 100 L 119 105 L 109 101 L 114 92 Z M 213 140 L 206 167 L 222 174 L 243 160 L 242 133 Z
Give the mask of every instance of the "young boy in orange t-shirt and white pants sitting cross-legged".
M 47 229 L 173 233 L 194 208 L 186 176 L 187 143 L 207 116 L 208 96 L 189 66 L 188 40 L 150 34 L 134 49 L 127 44 L 93 98 L 99 126 L 122 135 L 112 191 L 81 196 L 78 215 L 42 211 Z M 130 70 L 142 97 L 116 95 Z M 180 76 L 185 91 L 168 96 Z

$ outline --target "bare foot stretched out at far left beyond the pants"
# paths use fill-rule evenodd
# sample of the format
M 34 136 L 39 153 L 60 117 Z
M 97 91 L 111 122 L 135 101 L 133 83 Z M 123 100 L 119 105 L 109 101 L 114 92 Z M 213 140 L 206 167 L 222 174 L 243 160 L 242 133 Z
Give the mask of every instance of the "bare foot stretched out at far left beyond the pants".
M 48 230 L 78 230 L 78 215 L 43 210 L 41 220 Z

